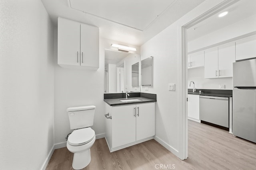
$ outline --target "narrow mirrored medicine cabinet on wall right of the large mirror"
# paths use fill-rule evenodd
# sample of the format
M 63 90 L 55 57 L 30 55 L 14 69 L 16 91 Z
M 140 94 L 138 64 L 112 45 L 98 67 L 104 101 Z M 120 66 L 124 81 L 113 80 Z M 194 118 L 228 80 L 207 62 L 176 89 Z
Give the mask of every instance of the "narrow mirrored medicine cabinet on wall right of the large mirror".
M 153 57 L 141 61 L 141 85 L 153 86 Z

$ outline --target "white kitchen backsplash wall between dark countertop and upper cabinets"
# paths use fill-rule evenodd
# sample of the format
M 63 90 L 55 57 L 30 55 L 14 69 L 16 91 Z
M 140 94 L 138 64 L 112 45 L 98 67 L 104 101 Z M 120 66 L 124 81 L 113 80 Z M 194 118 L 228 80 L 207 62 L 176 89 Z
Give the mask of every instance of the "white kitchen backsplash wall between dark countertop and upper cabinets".
M 233 88 L 233 79 L 232 77 L 228 78 L 204 78 L 204 67 L 202 68 L 193 68 L 188 69 L 188 88 L 193 88 L 192 84 L 189 87 L 190 81 L 195 83 L 195 88 L 197 89 L 218 89 L 219 85 L 225 84 L 225 90 L 232 90 Z

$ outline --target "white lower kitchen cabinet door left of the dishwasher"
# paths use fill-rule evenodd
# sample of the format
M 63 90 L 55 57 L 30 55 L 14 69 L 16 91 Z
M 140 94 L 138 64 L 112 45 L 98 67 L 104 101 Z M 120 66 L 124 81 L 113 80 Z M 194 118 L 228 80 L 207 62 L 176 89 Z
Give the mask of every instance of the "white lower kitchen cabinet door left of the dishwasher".
M 188 94 L 188 117 L 199 120 L 199 95 Z

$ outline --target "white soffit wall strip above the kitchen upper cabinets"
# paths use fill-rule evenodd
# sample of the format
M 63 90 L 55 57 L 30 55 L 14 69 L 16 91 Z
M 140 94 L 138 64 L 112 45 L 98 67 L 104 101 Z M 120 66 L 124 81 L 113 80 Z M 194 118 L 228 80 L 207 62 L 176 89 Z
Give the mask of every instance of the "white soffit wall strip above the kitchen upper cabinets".
M 256 31 L 256 15 L 188 42 L 188 52 Z

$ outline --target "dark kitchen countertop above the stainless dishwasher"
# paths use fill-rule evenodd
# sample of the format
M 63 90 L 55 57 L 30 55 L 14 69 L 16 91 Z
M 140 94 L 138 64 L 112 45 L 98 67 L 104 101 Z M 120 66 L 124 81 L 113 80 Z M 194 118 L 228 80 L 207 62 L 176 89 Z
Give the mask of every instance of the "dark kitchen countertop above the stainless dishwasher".
M 201 93 L 199 93 L 201 90 Z M 211 89 L 196 89 L 196 92 L 192 92 L 192 89 L 188 89 L 188 94 L 195 94 L 201 96 L 215 96 L 231 98 L 233 96 L 232 90 L 211 90 Z

